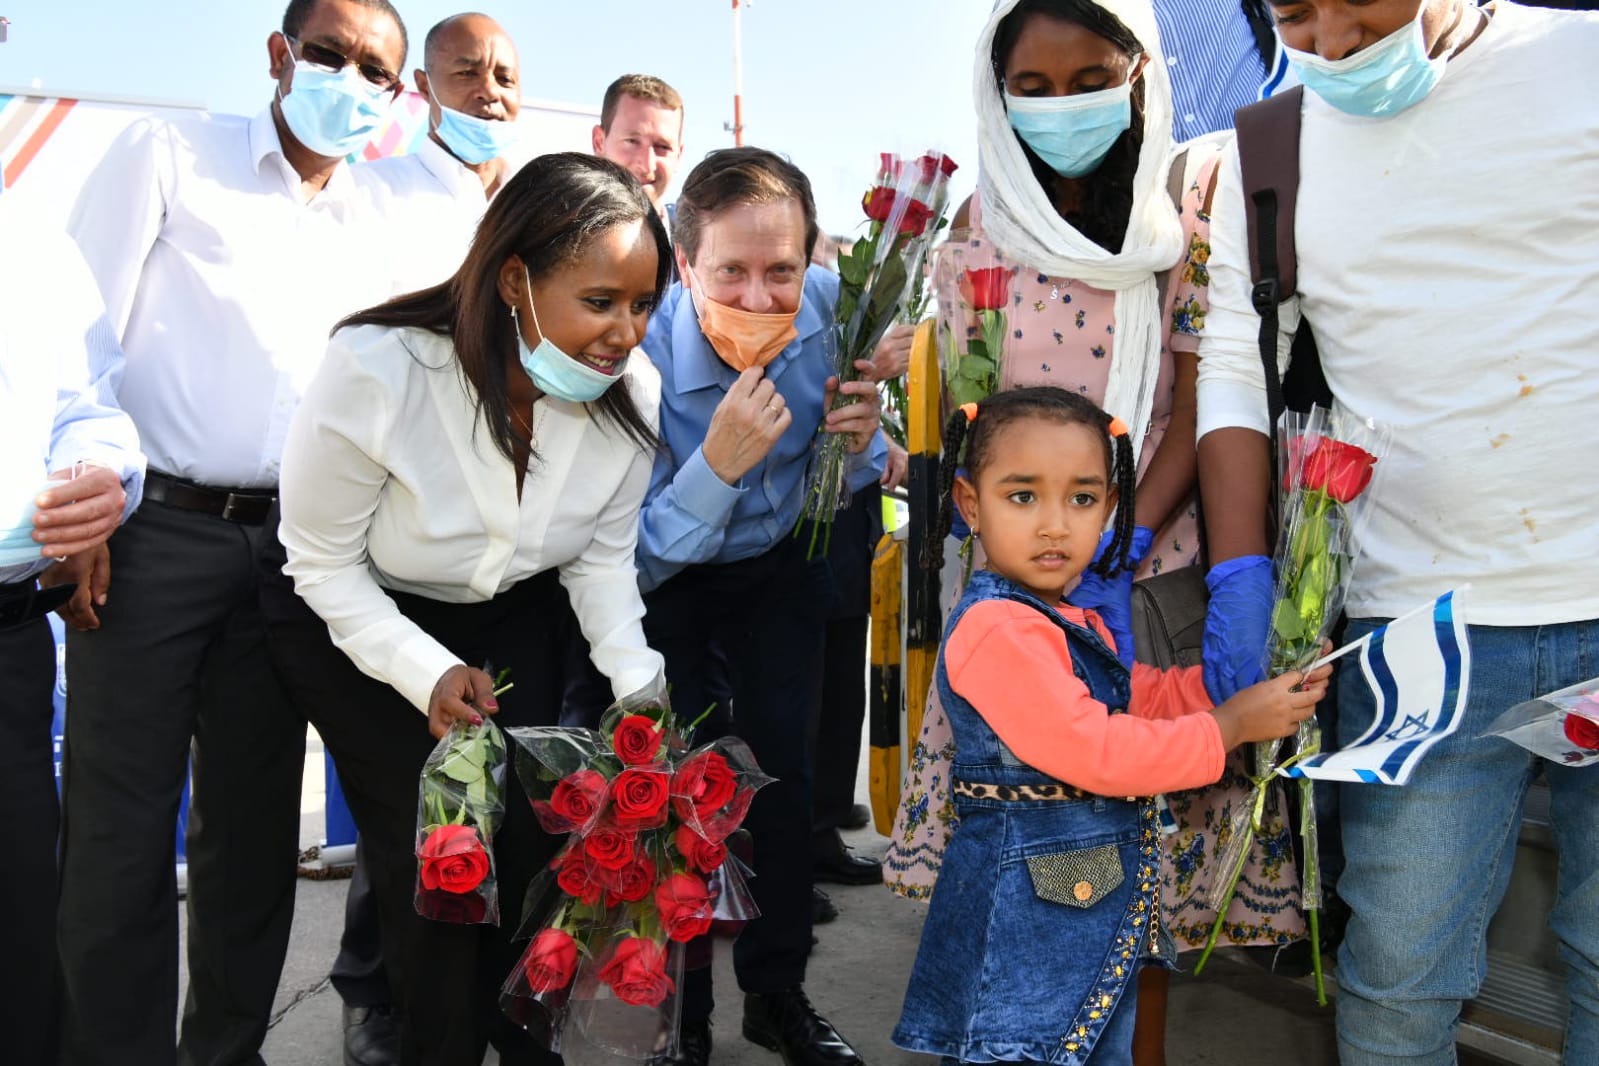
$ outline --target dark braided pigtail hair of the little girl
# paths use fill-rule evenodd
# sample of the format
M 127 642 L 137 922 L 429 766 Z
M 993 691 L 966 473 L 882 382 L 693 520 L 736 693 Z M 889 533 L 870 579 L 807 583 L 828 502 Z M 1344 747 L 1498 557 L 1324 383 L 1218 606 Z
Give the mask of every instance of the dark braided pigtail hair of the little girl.
M 939 516 L 927 534 L 921 558 L 923 569 L 937 571 L 943 566 L 943 542 L 955 526 L 956 470 L 964 467 L 966 478 L 975 483 L 988 463 L 988 449 L 995 433 L 1022 419 L 1044 419 L 1057 425 L 1086 425 L 1100 433 L 1105 441 L 1105 473 L 1116 486 L 1116 526 L 1110 547 L 1092 569 L 1107 577 L 1129 569 L 1127 550 L 1132 547 L 1134 526 L 1132 497 L 1137 487 L 1132 438 L 1121 419 L 1113 419 L 1087 396 L 1054 385 L 998 392 L 979 403 L 964 404 L 950 416 L 943 427 L 943 457 L 939 460 Z

